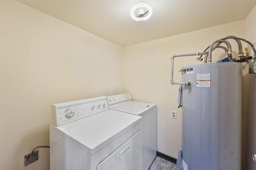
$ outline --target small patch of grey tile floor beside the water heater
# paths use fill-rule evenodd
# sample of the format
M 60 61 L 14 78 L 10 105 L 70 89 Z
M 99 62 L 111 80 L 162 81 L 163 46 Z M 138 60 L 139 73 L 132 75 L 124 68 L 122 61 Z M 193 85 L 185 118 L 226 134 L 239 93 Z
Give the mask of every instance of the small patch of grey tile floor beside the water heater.
M 180 170 L 176 164 L 156 156 L 148 170 Z

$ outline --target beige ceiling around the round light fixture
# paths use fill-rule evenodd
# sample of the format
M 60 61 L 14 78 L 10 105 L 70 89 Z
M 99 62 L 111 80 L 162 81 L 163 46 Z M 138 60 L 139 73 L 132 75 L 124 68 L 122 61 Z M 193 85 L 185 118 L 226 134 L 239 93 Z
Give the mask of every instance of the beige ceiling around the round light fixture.
M 17 0 L 122 47 L 244 20 L 256 0 L 144 0 L 151 18 L 134 21 L 140 0 Z

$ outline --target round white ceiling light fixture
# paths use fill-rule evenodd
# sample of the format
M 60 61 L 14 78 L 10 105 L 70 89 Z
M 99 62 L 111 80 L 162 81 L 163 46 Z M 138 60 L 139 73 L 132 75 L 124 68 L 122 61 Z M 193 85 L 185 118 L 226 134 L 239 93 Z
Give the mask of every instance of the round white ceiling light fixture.
M 145 21 L 152 16 L 152 8 L 146 2 L 139 2 L 132 7 L 130 15 L 135 21 Z

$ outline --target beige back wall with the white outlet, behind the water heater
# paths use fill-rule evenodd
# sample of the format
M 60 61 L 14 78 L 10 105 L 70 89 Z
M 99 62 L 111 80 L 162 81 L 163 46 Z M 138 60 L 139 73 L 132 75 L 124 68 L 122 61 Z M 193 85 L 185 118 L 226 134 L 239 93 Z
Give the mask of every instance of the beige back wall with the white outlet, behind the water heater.
M 177 158 L 181 145 L 182 109 L 178 109 L 178 85 L 170 84 L 170 56 L 202 52 L 213 41 L 228 35 L 244 37 L 244 20 L 124 47 L 122 92 L 129 92 L 134 100 L 157 104 L 159 152 Z M 234 40 L 230 42 L 233 56 L 237 56 L 238 46 Z M 182 66 L 200 63 L 196 58 L 175 58 L 174 80 L 181 81 L 178 70 Z M 213 62 L 222 58 L 224 51 L 216 49 Z M 177 111 L 177 119 L 171 119 L 172 110 Z

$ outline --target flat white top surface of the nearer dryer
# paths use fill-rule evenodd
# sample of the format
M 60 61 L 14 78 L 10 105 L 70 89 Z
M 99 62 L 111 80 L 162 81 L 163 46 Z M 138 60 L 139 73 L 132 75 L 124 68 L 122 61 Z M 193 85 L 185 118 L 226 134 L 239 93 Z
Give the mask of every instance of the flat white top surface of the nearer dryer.
M 92 155 L 139 121 L 140 116 L 109 109 L 50 128 Z

